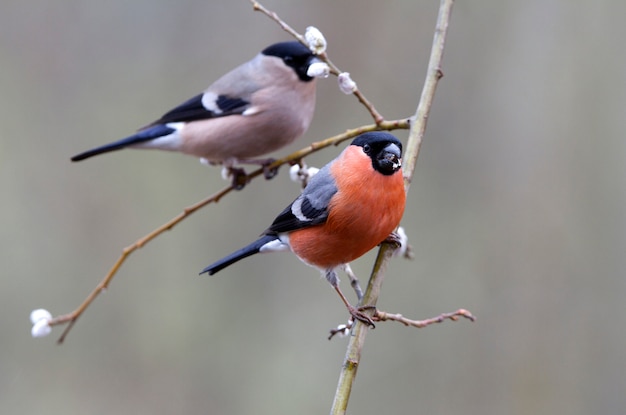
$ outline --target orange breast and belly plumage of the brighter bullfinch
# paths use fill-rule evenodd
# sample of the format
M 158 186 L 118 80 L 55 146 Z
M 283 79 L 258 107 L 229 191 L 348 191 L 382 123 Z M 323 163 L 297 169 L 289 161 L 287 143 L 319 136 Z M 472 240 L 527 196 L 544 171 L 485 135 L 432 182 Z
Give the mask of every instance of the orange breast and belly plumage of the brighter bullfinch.
M 406 202 L 402 171 L 375 171 L 360 147 L 348 147 L 331 172 L 339 190 L 326 223 L 289 236 L 292 251 L 322 269 L 351 262 L 381 243 L 400 223 Z

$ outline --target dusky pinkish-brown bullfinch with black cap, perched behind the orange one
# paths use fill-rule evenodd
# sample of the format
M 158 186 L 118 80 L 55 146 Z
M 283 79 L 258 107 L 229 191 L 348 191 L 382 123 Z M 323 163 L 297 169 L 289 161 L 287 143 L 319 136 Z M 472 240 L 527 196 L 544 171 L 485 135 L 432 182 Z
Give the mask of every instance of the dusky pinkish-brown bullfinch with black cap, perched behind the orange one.
M 72 161 L 123 148 L 156 148 L 226 167 L 268 163 L 256 158 L 290 144 L 311 123 L 315 78 L 307 71 L 317 62 L 299 42 L 268 46 L 137 133 Z

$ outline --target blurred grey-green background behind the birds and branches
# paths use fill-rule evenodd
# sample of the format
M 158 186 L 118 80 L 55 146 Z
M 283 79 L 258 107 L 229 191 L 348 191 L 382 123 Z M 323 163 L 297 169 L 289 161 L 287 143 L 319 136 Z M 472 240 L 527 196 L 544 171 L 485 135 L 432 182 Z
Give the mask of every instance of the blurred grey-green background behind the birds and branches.
M 320 28 L 386 118 L 413 114 L 438 2 L 265 5 Z M 349 413 L 626 411 L 625 15 L 618 0 L 457 2 L 403 221 L 415 259 L 393 261 L 379 306 L 478 320 L 378 324 Z M 285 169 L 133 254 L 64 345 L 28 321 L 73 310 L 123 247 L 226 185 L 173 153 L 70 156 L 287 39 L 244 0 L 3 2 L 1 413 L 328 413 L 346 339 L 326 336 L 347 315 L 317 271 L 275 254 L 198 276 L 298 194 Z M 310 130 L 276 155 L 370 122 L 321 80 Z M 373 257 L 353 264 L 363 283 Z

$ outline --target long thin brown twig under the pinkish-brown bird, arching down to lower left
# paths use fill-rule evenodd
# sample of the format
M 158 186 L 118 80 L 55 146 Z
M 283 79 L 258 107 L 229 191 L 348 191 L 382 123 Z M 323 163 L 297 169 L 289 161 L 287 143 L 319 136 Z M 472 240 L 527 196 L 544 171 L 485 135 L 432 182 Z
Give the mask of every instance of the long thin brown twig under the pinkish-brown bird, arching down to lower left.
M 309 154 L 312 154 L 316 151 L 319 151 L 331 145 L 338 145 L 342 141 L 356 137 L 357 135 L 362 134 L 364 132 L 377 131 L 377 130 L 389 131 L 389 130 L 407 129 L 407 128 L 409 128 L 409 120 L 404 119 L 404 120 L 385 121 L 384 123 L 378 124 L 378 125 L 370 124 L 370 125 L 364 125 L 358 128 L 346 130 L 346 132 L 342 134 L 338 134 L 333 137 L 327 138 L 325 140 L 312 143 L 311 145 L 301 150 L 298 150 L 282 159 L 276 160 L 271 165 L 269 165 L 269 168 L 274 169 L 285 164 L 291 164 L 291 163 L 297 162 L 298 160 L 302 159 L 303 157 L 308 156 Z M 252 179 L 259 177 L 262 174 L 263 174 L 263 168 L 259 168 L 249 173 L 246 176 L 246 182 L 250 182 Z M 111 283 L 111 280 L 113 280 L 113 277 L 115 276 L 115 274 L 117 274 L 118 270 L 120 269 L 120 267 L 126 261 L 126 259 L 128 258 L 130 254 L 142 248 L 148 242 L 155 239 L 157 236 L 161 235 L 163 232 L 172 229 L 174 226 L 182 222 L 184 219 L 186 219 L 189 215 L 196 212 L 197 210 L 203 208 L 204 206 L 210 203 L 218 202 L 222 197 L 230 193 L 230 191 L 232 190 L 233 190 L 233 187 L 228 186 L 220 190 L 219 192 L 213 194 L 212 196 L 209 196 L 200 202 L 197 202 L 189 207 L 186 207 L 176 217 L 172 218 L 168 222 L 159 226 L 158 228 L 156 228 L 155 230 L 153 230 L 152 232 L 150 232 L 143 238 L 138 239 L 132 245 L 129 245 L 126 248 L 124 248 L 122 251 L 122 254 L 117 259 L 113 267 L 109 270 L 109 272 L 102 279 L 102 281 L 100 281 L 100 283 L 96 286 L 96 288 L 94 288 L 94 290 L 87 296 L 87 298 L 85 298 L 85 300 L 74 311 L 68 314 L 59 315 L 53 318 L 52 320 L 50 320 L 49 322 L 50 326 L 68 324 L 67 327 L 65 327 L 65 330 L 63 331 L 63 333 L 61 334 L 61 337 L 59 338 L 58 342 L 63 343 L 63 340 L 65 340 L 65 337 L 74 326 L 74 323 L 76 323 L 76 320 L 78 320 L 78 318 L 83 314 L 83 312 L 87 309 L 87 307 L 89 307 L 89 305 L 96 299 L 96 297 L 98 297 L 98 295 L 100 295 L 100 293 L 109 286 L 109 284 Z

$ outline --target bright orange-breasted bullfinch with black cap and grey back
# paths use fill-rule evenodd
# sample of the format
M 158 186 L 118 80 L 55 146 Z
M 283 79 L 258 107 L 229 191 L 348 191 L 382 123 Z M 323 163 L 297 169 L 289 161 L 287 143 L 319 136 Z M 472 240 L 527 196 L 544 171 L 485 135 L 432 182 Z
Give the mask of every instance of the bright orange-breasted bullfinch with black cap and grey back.
M 250 255 L 291 250 L 318 268 L 352 317 L 372 320 L 350 305 L 337 270 L 387 239 L 405 206 L 402 143 L 385 132 L 361 134 L 313 176 L 303 192 L 259 239 L 209 265 L 209 275 Z

